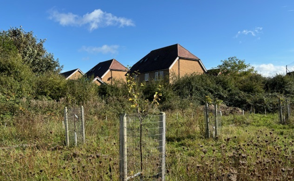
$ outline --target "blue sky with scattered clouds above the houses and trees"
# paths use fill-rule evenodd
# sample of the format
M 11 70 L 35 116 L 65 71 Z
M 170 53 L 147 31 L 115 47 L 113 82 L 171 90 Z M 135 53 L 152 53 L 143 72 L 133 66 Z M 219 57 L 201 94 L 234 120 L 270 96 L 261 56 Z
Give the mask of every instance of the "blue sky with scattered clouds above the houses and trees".
M 207 69 L 236 56 L 264 75 L 294 70 L 293 0 L 0 0 L 0 29 L 33 31 L 63 71 L 132 66 L 180 44 Z

